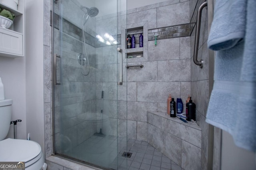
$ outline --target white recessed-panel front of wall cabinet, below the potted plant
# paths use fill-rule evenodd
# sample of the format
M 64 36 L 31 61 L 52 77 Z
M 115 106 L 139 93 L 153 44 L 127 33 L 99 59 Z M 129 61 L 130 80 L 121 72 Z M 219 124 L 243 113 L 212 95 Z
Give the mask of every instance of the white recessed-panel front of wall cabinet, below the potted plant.
M 23 55 L 22 34 L 0 28 L 0 52 Z

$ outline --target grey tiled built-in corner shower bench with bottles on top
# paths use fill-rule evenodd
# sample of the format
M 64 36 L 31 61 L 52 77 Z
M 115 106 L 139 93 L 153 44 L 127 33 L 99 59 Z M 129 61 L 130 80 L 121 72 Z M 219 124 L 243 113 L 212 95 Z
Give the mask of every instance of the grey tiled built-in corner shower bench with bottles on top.
M 186 169 L 201 167 L 201 128 L 163 112 L 147 112 L 148 143 Z

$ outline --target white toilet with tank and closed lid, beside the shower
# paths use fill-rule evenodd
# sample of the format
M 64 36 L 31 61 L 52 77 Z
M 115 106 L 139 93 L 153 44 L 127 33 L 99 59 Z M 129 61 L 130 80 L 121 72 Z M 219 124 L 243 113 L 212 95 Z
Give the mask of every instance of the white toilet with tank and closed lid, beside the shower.
M 0 101 L 0 162 L 25 162 L 26 170 L 46 170 L 41 146 L 32 140 L 6 138 L 12 115 L 12 100 Z

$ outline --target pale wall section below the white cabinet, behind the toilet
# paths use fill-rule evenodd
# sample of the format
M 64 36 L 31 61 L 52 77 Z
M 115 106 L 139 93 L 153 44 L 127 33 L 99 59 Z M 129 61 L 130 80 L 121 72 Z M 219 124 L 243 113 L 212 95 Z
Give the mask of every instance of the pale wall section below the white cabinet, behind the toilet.
M 21 119 L 17 124 L 17 137 L 26 139 L 26 59 L 0 56 L 0 77 L 4 84 L 5 99 L 12 99 L 12 121 Z M 6 138 L 14 138 L 14 126 Z

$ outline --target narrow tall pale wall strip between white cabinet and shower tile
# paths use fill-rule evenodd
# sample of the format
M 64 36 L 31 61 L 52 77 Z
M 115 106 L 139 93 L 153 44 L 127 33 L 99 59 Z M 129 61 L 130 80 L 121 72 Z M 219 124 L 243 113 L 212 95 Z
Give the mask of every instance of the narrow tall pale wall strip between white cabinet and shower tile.
M 44 150 L 44 2 L 26 1 L 26 127 Z M 37 17 L 34 17 L 34 14 Z

